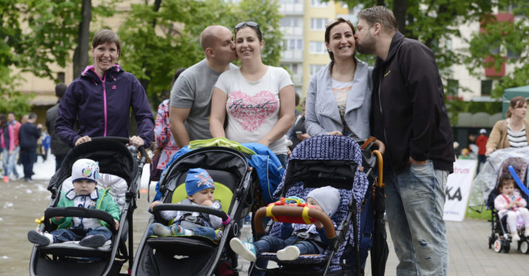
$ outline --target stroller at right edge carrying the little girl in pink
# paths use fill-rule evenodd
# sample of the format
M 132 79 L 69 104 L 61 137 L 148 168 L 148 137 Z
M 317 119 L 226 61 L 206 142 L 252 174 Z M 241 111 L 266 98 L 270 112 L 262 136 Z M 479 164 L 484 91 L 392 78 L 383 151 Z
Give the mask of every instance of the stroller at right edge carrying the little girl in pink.
M 496 186 L 495 189 L 492 189 L 488 195 L 488 200 L 486 204 L 486 208 L 489 210 L 492 210 L 491 217 L 490 217 L 490 224 L 491 224 L 491 235 L 488 237 L 488 248 L 492 248 L 495 252 L 505 252 L 508 253 L 510 251 L 510 243 L 512 242 L 512 237 L 510 233 L 507 231 L 507 216 L 499 219 L 498 211 L 494 207 L 494 200 L 497 195 L 499 195 L 498 191 L 498 184 L 499 180 L 502 176 L 505 176 L 507 174 L 510 174 L 508 167 L 512 166 L 512 168 L 517 171 L 517 175 L 519 178 L 523 181 L 526 180 L 526 173 L 528 169 L 528 161 L 524 160 L 523 158 L 519 157 L 510 157 L 501 162 L 501 165 L 499 167 L 499 170 L 497 171 L 497 180 L 496 180 Z M 526 181 L 527 183 L 527 181 Z M 516 185 L 515 185 L 515 188 Z M 522 197 L 526 200 L 528 199 L 528 195 L 521 193 Z M 526 222 L 529 223 L 529 222 Z M 521 253 L 528 254 L 529 253 L 529 233 L 523 233 L 523 230 L 520 231 L 520 237 L 521 240 L 517 242 L 517 249 L 521 251 Z

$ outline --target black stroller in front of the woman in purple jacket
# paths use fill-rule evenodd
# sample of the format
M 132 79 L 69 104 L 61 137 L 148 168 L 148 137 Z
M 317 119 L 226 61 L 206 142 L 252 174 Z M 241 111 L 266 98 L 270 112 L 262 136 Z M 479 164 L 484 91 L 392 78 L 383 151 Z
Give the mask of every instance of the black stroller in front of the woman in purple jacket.
M 125 147 L 128 142 L 128 138 L 92 138 L 91 142 L 85 142 L 72 149 L 59 171 L 50 180 L 48 190 L 52 193 L 52 199 L 39 226 L 39 231 L 50 232 L 56 229 L 56 225 L 50 221 L 51 217 L 94 217 L 112 226 L 112 242 L 98 248 L 80 246 L 75 242 L 35 245 L 30 259 L 30 275 L 121 275 L 121 267 L 127 260 L 129 267 L 132 266 L 132 213 L 136 208 L 138 182 L 141 180 L 147 154 L 141 147 L 142 157 L 138 161 Z M 99 163 L 101 176 L 98 187 L 110 188 L 109 194 L 120 207 L 121 220 L 117 231 L 113 227 L 112 215 L 104 211 L 55 207 L 62 196 L 61 189 L 65 189 L 63 186 L 68 183 L 65 180 L 70 178 L 72 165 L 80 158 L 90 158 Z

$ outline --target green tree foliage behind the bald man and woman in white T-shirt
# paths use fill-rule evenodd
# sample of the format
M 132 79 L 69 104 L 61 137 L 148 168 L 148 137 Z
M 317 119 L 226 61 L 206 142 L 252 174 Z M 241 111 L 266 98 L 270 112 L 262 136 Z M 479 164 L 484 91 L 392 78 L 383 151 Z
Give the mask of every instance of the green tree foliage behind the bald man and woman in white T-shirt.
M 200 32 L 208 25 L 228 28 L 240 21 L 260 24 L 265 40 L 263 61 L 279 65 L 280 39 L 276 0 L 157 0 L 132 5 L 118 34 L 123 44 L 121 63 L 147 91 L 153 107 L 165 99 L 174 72 L 204 59 Z

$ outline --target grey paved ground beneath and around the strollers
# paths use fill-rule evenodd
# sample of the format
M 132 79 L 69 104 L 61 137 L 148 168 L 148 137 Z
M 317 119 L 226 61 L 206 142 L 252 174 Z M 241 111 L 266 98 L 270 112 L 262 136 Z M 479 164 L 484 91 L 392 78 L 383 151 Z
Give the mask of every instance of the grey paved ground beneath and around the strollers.
M 45 189 L 47 185 L 46 180 L 0 183 L 0 275 L 28 275 L 32 244 L 26 235 L 36 226 L 34 218 L 40 217 L 48 205 L 50 193 Z M 138 200 L 138 209 L 134 212 L 135 246 L 138 246 L 149 217 L 145 195 Z M 488 249 L 488 222 L 447 222 L 447 229 L 450 248 L 448 275 L 529 275 L 529 255 L 519 253 L 516 248 L 510 253 L 495 253 Z M 391 239 L 388 242 L 390 255 L 386 275 L 391 276 L 395 275 L 397 259 Z M 248 263 L 241 263 L 244 265 L 241 275 L 246 275 Z M 369 260 L 366 275 L 371 275 Z

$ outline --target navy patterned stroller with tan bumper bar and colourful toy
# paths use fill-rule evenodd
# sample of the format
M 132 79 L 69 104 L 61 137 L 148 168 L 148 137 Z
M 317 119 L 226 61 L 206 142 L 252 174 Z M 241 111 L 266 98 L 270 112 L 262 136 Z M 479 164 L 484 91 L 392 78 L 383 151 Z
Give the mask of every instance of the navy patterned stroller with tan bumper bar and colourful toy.
M 383 145 L 380 147 L 382 148 Z M 323 254 L 300 255 L 294 261 L 281 261 L 276 253 L 259 253 L 256 262 L 249 269 L 249 275 L 256 271 L 265 271 L 265 275 L 363 275 L 361 263 L 365 262 L 366 255 L 360 254 L 359 241 L 364 237 L 365 224 L 371 224 L 373 229 L 371 198 L 375 190 L 373 185 L 369 184 L 367 175 L 376 166 L 377 158 L 375 157 L 374 162 L 366 162 L 364 156 L 362 162 L 362 157 L 357 142 L 341 136 L 316 136 L 304 140 L 295 147 L 275 195 L 278 198 L 291 196 L 306 198 L 310 191 L 318 187 L 331 186 L 339 189 L 340 205 L 332 221 L 328 216 L 320 220 L 322 217 L 317 217 L 318 211 L 313 209 L 308 213 L 309 217 L 314 215 L 312 218 L 323 223 L 329 245 Z M 363 167 L 362 164 L 367 167 Z M 280 223 L 271 221 L 264 229 L 262 222 L 265 216 L 295 216 L 296 211 L 286 211 L 289 209 L 287 207 L 291 207 L 291 210 L 301 208 L 273 206 L 269 209 L 269 213 L 267 207 L 259 209 L 254 222 L 257 237 L 262 235 L 279 237 Z M 300 214 L 301 210 L 298 211 Z M 371 215 L 368 212 L 371 212 Z M 362 217 L 365 213 L 368 215 Z M 383 213 L 382 211 L 381 215 Z M 337 229 L 325 227 L 332 226 L 335 222 L 338 222 Z M 371 244 L 371 233 L 367 240 Z M 260 267 L 264 260 L 276 262 L 278 268 Z

